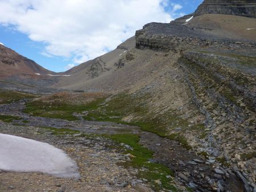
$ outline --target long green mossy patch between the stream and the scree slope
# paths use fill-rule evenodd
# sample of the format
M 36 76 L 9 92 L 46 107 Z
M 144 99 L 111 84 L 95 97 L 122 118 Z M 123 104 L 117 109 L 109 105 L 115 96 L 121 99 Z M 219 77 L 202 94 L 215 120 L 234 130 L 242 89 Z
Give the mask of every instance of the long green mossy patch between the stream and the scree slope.
M 191 149 L 184 136 L 170 135 L 167 132 L 167 127 L 181 128 L 188 127 L 188 121 L 180 118 L 175 111 L 166 112 L 160 116 L 154 116 L 148 112 L 146 106 L 147 99 L 150 95 L 143 95 L 141 97 L 122 93 L 115 95 L 111 99 L 97 98 L 90 103 L 83 105 L 71 105 L 68 103 L 54 100 L 51 102 L 44 102 L 42 100 L 31 101 L 27 104 L 24 112 L 35 116 L 43 116 L 47 118 L 58 118 L 67 120 L 78 120 L 73 116 L 73 112 L 77 114 L 86 113 L 83 115 L 85 120 L 96 120 L 102 122 L 114 122 L 129 124 L 141 127 L 141 130 L 156 133 L 161 137 L 168 137 L 169 139 L 179 141 L 183 147 Z M 132 120 L 127 123 L 122 120 L 125 116 L 137 116 L 138 120 Z M 165 121 L 163 119 L 166 119 Z

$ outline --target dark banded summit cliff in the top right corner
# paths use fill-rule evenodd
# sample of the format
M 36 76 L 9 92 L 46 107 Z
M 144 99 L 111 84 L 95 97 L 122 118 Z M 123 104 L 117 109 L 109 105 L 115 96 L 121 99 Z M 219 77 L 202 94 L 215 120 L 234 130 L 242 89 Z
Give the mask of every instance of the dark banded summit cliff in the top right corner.
M 203 14 L 226 14 L 256 18 L 256 1 L 205 0 L 195 11 L 196 16 Z

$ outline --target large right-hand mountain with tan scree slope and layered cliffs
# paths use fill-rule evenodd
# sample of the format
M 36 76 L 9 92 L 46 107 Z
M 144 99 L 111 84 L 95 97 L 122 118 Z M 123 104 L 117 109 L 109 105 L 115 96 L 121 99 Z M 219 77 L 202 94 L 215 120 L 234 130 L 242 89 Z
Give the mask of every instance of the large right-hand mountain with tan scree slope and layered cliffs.
M 99 111 L 93 107 L 92 120 L 146 124 L 144 131 L 205 158 L 206 170 L 199 160 L 159 159 L 180 186 L 255 191 L 255 29 L 255 1 L 204 1 L 171 23 L 146 24 L 114 51 L 62 76 L 45 76 L 42 69 L 45 77 L 36 84 L 112 94 Z

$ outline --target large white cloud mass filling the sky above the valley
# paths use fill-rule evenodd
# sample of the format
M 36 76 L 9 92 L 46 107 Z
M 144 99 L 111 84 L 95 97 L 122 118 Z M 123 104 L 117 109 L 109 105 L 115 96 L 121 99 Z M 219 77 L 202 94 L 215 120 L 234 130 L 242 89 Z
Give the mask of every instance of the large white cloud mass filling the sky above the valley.
M 0 0 L 0 24 L 46 44 L 44 55 L 94 59 L 149 22 L 170 22 L 167 0 Z M 172 13 L 181 9 L 171 5 Z

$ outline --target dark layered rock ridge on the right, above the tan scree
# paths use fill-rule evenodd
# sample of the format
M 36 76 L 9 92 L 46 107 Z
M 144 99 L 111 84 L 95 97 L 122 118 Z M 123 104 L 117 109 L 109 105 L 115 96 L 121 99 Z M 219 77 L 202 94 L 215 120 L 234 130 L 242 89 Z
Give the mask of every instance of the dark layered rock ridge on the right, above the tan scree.
M 255 142 L 255 10 L 256 1 L 204 1 L 188 22 L 192 15 L 171 23 L 149 23 L 136 32 L 138 49 L 179 56 L 176 68 L 183 70 L 191 101 L 205 117 L 208 132 L 201 144 L 216 157 L 224 158 L 227 151 L 236 157 L 242 153 L 241 143 Z M 255 154 L 255 148 L 243 150 Z M 227 159 L 238 167 L 233 172 L 245 191 L 255 190 L 255 174 L 240 166 L 240 158 Z M 254 160 L 245 162 L 255 170 Z M 241 173 L 249 174 L 245 178 Z

